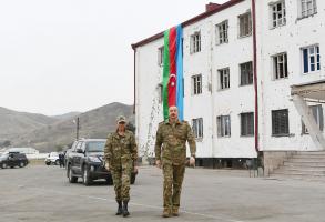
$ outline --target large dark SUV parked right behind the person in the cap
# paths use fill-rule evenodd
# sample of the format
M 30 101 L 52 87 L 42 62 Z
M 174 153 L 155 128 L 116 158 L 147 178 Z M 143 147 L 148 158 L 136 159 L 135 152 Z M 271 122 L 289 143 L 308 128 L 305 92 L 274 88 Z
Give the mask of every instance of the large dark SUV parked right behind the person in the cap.
M 67 176 L 70 183 L 75 183 L 78 178 L 82 178 L 84 185 L 90 185 L 98 179 L 113 183 L 111 172 L 104 167 L 105 143 L 105 139 L 81 139 L 72 144 L 67 155 Z M 131 184 L 135 182 L 135 175 L 136 173 L 132 173 Z

